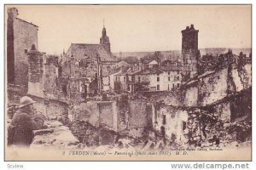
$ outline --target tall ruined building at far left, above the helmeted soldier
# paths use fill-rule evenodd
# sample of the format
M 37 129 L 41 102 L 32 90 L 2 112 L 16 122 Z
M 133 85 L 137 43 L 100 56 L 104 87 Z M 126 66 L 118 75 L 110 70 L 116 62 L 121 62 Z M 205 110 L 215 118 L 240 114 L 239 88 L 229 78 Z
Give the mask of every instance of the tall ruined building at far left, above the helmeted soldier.
M 38 26 L 18 18 L 17 8 L 8 8 L 7 19 L 7 77 L 8 83 L 27 90 L 27 51 L 38 48 Z

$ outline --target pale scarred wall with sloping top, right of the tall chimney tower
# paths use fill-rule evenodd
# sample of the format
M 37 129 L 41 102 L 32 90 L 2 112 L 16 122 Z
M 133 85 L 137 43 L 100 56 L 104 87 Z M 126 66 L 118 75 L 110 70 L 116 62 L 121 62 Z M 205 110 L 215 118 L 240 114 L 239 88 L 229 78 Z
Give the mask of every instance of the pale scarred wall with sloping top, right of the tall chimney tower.
M 184 87 L 183 105 L 212 105 L 230 94 L 252 86 L 251 64 L 235 65 L 204 73 Z

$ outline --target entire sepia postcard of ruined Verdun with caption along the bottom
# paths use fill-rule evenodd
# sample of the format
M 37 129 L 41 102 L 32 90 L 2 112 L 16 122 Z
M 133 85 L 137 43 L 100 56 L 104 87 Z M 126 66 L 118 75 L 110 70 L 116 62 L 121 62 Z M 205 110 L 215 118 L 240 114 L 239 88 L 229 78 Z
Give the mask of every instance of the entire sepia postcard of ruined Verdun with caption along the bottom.
M 251 161 L 251 5 L 5 5 L 5 161 Z

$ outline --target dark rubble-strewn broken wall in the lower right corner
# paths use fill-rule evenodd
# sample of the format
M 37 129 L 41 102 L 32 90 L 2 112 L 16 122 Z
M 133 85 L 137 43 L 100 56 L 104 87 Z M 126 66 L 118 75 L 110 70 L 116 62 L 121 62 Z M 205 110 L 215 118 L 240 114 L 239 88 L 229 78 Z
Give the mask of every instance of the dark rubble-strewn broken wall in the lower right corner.
M 189 144 L 226 146 L 252 137 L 251 89 L 198 109 L 190 109 Z

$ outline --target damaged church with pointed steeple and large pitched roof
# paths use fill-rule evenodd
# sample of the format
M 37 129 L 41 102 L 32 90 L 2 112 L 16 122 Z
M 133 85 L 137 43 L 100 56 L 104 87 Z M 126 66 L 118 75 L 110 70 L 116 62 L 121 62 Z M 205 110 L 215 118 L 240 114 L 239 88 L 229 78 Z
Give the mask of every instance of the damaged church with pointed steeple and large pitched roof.
M 116 62 L 106 28 L 103 27 L 100 44 L 72 43 L 61 65 L 64 75 L 87 79 L 84 88 L 88 94 L 100 94 L 104 85 L 108 85 L 108 73 Z M 103 79 L 107 82 L 103 83 Z

